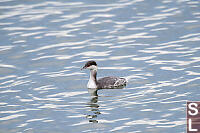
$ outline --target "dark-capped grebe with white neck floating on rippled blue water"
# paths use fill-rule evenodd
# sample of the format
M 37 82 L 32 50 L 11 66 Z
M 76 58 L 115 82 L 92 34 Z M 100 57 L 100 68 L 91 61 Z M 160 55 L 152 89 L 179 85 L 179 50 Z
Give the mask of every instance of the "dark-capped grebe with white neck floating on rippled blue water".
M 90 69 L 90 79 L 87 88 L 111 89 L 123 87 L 127 83 L 125 78 L 119 77 L 104 77 L 97 80 L 97 63 L 95 61 L 88 61 L 82 69 Z

